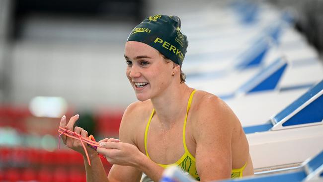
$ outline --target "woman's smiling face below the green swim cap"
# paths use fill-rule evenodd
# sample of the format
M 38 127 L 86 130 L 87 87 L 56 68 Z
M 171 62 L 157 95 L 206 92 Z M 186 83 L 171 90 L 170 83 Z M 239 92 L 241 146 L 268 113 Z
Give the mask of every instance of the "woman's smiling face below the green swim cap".
M 138 100 L 144 101 L 163 93 L 172 80 L 173 64 L 165 63 L 159 52 L 142 42 L 125 45 L 126 75 Z

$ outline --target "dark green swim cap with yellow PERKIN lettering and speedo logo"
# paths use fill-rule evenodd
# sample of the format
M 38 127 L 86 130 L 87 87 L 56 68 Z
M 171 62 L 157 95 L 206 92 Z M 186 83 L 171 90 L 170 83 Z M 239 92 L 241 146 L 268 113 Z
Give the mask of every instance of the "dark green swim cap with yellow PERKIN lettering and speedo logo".
M 187 37 L 180 30 L 179 17 L 161 14 L 145 18 L 131 31 L 128 41 L 148 44 L 179 66 L 188 46 Z

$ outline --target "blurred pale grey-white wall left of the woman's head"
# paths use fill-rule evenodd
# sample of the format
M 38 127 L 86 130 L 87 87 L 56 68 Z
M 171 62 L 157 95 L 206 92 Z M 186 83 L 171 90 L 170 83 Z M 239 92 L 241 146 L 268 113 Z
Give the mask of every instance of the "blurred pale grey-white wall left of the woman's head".
M 62 96 L 78 108 L 126 107 L 136 100 L 125 76 L 124 43 L 133 25 L 33 19 L 12 47 L 13 104 Z

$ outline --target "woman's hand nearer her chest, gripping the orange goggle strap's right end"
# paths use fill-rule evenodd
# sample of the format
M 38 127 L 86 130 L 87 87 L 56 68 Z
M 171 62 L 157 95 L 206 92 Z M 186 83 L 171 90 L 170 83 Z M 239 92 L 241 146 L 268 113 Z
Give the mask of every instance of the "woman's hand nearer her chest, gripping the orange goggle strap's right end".
M 96 151 L 105 156 L 110 164 L 136 167 L 137 161 L 144 155 L 135 145 L 123 143 L 117 139 L 104 139 L 99 143 L 101 147 Z

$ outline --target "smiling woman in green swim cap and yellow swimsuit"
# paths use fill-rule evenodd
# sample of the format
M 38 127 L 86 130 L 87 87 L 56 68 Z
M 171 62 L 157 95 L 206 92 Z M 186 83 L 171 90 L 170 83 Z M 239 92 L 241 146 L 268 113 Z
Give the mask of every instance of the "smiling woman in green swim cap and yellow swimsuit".
M 197 181 L 253 175 L 248 142 L 233 111 L 217 96 L 184 83 L 181 65 L 188 42 L 176 16 L 147 17 L 133 29 L 125 45 L 126 75 L 139 101 L 124 112 L 119 139 L 99 141 L 97 152 L 113 164 L 108 177 L 97 152 L 79 140 L 64 143 L 84 156 L 89 182 L 153 181 L 164 168 L 178 165 Z M 61 127 L 73 131 L 78 115 Z M 74 131 L 87 137 L 80 127 Z

